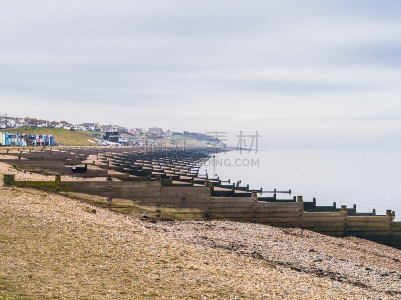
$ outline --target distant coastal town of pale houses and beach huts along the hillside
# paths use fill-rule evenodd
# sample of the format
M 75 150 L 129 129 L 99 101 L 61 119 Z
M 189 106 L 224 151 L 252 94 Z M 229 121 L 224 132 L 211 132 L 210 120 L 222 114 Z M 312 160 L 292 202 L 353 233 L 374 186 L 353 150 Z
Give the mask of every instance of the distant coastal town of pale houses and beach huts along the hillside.
M 98 121 L 72 124 L 70 122 L 49 121 L 40 118 L 0 116 L 0 145 L 7 146 L 58 146 L 68 145 L 65 140 L 57 139 L 51 132 L 38 129 L 64 129 L 87 133 L 89 137 L 81 145 L 174 145 L 180 142 L 226 146 L 218 136 L 202 132 L 172 131 L 160 127 L 126 128 L 120 125 L 100 124 Z M 21 130 L 23 129 L 23 130 Z M 31 132 L 29 129 L 37 129 Z

